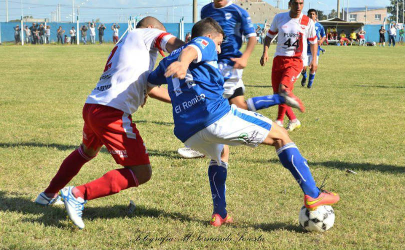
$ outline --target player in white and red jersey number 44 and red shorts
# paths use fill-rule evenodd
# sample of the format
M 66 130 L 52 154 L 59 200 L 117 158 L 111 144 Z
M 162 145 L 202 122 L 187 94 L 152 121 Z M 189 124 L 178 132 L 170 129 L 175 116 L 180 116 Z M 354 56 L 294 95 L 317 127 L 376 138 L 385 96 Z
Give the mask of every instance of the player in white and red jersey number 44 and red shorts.
M 304 0 L 289 0 L 289 12 L 278 13 L 274 16 L 270 29 L 266 35 L 263 46 L 263 55 L 260 59 L 262 66 L 268 61 L 268 47 L 272 38 L 278 33 L 277 48 L 274 53 L 273 67 L 271 70 L 271 84 L 274 93 L 292 90 L 294 82 L 303 68 L 303 58 L 306 56 L 307 42 L 311 43 L 312 62 L 309 65 L 316 70 L 316 52 L 318 49 L 314 22 L 301 10 Z M 301 126 L 292 108 L 286 104 L 278 106 L 278 116 L 275 122 L 283 125 L 284 115 L 289 119 L 287 130 L 292 131 Z

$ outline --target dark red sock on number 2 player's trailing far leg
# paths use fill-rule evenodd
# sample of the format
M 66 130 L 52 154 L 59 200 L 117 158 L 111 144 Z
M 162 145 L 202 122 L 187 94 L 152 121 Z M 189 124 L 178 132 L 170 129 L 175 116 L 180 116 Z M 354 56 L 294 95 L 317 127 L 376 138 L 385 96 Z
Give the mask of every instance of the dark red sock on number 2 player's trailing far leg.
M 93 158 L 94 157 L 90 157 L 83 151 L 82 146 L 77 148 L 65 158 L 55 177 L 51 180 L 51 183 L 44 192 L 59 192 L 59 190 L 65 187 L 65 185 L 68 184 L 69 181 L 79 172 L 80 168 Z

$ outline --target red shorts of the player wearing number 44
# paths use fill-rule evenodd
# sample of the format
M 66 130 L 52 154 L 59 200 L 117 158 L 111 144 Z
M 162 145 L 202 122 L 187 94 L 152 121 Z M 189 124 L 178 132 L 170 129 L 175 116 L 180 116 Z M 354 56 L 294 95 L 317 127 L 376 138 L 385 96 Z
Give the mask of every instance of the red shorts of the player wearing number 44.
M 273 92 L 278 93 L 278 87 L 281 84 L 289 89 L 294 88 L 294 82 L 297 80 L 303 68 L 302 59 L 299 57 L 276 56 L 273 59 L 271 69 L 271 85 Z

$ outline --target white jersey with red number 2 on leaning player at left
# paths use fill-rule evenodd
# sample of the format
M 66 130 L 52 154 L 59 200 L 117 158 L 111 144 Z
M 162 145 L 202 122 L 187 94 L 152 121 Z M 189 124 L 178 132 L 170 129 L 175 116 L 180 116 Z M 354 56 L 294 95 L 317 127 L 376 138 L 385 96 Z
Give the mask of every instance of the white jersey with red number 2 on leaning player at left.
M 143 103 L 149 73 L 159 50 L 174 37 L 156 28 L 136 28 L 118 42 L 107 59 L 104 72 L 86 103 L 103 104 L 134 113 Z

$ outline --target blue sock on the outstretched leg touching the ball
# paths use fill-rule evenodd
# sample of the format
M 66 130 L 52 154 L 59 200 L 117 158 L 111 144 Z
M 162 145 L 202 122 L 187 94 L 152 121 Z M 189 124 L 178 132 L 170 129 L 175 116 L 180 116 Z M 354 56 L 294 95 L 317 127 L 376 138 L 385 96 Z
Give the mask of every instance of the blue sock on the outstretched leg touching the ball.
M 315 184 L 315 180 L 312 177 L 306 159 L 301 156 L 295 143 L 287 143 L 278 148 L 276 152 L 280 158 L 281 164 L 290 170 L 295 180 L 301 186 L 304 194 L 313 198 L 318 197 L 320 190 Z

